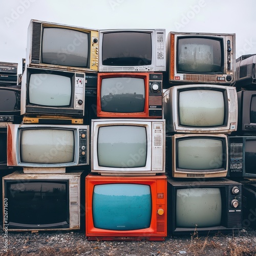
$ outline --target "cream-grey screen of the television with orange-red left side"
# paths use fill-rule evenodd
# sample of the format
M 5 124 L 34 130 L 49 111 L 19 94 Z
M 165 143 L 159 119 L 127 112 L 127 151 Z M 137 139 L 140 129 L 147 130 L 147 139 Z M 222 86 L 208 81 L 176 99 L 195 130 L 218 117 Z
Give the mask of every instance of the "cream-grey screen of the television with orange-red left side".
M 28 129 L 20 133 L 20 162 L 58 164 L 74 162 L 74 132 Z

